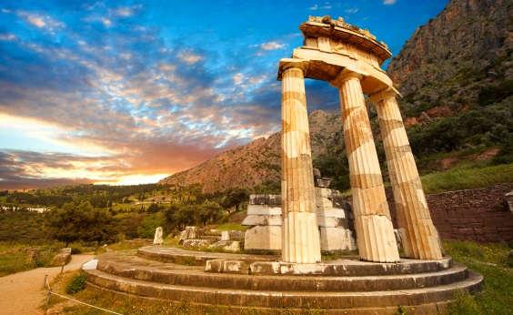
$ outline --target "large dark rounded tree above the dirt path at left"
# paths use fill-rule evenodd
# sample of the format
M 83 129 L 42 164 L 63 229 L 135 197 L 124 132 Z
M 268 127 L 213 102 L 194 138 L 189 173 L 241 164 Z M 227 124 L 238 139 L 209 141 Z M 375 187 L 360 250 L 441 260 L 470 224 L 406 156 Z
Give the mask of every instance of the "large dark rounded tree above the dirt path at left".
M 116 232 L 112 217 L 104 208 L 93 208 L 89 201 L 66 203 L 48 213 L 46 227 L 50 235 L 68 246 L 70 242 L 110 241 L 115 239 Z

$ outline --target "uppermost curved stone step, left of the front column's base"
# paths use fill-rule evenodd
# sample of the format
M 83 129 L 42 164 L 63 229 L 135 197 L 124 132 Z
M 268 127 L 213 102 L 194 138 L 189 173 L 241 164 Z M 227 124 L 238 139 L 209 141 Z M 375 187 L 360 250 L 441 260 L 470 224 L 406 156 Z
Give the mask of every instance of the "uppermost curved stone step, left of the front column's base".
M 191 266 L 205 266 L 206 260 L 211 259 L 238 259 L 246 262 L 272 261 L 277 259 L 277 257 L 270 255 L 216 253 L 161 246 L 146 246 L 140 248 L 137 250 L 137 255 L 145 259 Z

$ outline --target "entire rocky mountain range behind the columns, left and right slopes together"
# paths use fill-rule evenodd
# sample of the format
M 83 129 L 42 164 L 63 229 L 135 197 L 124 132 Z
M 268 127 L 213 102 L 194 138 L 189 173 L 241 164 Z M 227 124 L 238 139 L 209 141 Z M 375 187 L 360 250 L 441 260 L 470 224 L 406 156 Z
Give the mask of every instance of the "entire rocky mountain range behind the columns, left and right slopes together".
M 404 96 L 399 106 L 421 172 L 462 158 L 513 160 L 512 6 L 508 0 L 452 0 L 391 60 L 387 72 Z M 369 115 L 383 160 L 374 108 Z M 309 121 L 314 165 L 335 178 L 335 188 L 348 188 L 339 116 L 317 110 Z M 160 183 L 199 184 L 206 192 L 278 183 L 279 147 L 277 133 Z

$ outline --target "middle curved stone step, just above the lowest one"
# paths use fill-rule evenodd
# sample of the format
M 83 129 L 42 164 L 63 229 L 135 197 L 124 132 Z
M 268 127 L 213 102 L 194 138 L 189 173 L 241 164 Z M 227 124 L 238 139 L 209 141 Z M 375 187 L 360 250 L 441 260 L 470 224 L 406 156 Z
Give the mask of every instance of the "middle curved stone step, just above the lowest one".
M 252 276 L 208 273 L 200 267 L 159 263 L 136 256 L 100 256 L 98 270 L 127 279 L 140 279 L 173 285 L 235 290 L 288 291 L 378 291 L 427 288 L 458 282 L 468 277 L 467 268 L 420 274 L 365 277 Z

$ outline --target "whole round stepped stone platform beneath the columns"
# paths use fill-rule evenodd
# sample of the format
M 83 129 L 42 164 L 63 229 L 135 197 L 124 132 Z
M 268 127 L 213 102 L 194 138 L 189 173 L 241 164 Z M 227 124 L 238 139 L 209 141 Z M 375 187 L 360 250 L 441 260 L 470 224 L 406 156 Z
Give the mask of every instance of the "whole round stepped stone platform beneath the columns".
M 338 259 L 319 264 L 329 270 L 320 274 L 252 273 L 250 267 L 255 264 L 279 264 L 278 269 L 290 269 L 276 259 L 146 247 L 137 252 L 100 255 L 97 269 L 85 272 L 88 283 L 96 288 L 143 298 L 225 305 L 238 310 L 286 308 L 348 314 L 393 314 L 398 306 L 406 307 L 408 314 L 436 313 L 457 290 L 478 290 L 482 281 L 480 275 L 450 259 L 403 259 L 396 264 Z M 206 271 L 209 264 L 215 264 L 213 261 L 235 261 L 246 268 L 239 268 L 246 274 Z

